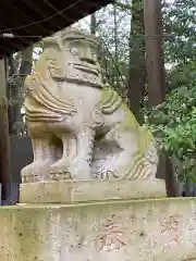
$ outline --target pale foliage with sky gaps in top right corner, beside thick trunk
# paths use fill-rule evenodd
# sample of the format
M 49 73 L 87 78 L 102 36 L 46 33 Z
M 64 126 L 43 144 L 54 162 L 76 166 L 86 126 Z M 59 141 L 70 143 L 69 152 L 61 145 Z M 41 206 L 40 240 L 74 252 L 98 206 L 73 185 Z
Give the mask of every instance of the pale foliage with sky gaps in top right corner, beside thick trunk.
M 175 0 L 163 7 L 166 62 L 182 63 L 196 59 L 196 3 Z

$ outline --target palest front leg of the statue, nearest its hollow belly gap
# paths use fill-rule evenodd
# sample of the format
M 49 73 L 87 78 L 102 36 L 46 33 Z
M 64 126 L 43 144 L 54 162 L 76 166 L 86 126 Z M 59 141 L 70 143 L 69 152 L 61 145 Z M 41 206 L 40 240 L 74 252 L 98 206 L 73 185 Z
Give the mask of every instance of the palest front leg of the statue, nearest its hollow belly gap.
M 95 130 L 86 127 L 77 134 L 77 156 L 70 165 L 72 177 L 76 179 L 91 178 L 93 149 Z

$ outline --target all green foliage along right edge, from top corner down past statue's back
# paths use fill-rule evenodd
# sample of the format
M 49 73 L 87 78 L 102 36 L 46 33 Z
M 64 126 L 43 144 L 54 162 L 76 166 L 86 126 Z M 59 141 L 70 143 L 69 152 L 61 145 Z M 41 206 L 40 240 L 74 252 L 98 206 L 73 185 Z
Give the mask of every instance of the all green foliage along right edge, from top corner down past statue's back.
M 174 0 L 163 4 L 166 101 L 145 114 L 160 150 L 179 166 L 180 179 L 196 182 L 196 3 Z

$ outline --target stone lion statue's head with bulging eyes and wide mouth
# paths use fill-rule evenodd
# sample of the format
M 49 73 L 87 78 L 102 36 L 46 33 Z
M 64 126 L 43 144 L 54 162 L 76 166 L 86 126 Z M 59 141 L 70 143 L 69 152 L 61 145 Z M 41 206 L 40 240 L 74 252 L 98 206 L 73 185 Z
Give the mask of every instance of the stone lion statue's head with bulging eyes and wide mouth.
M 69 29 L 45 38 L 44 47 L 52 78 L 101 86 L 99 41 L 95 36 Z

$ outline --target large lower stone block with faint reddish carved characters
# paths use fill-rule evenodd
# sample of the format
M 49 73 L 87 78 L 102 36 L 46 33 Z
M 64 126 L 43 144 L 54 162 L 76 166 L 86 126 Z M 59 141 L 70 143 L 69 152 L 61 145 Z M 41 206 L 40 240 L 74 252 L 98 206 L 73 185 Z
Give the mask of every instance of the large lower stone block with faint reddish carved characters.
M 2 261 L 196 259 L 196 199 L 0 208 Z

